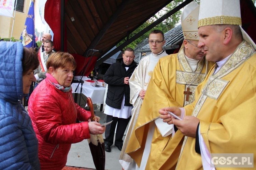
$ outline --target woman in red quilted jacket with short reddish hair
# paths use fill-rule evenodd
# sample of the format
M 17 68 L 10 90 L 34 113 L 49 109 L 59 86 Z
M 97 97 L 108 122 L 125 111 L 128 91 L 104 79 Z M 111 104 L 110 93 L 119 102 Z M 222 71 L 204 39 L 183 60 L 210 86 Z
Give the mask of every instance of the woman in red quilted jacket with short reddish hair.
M 39 141 L 41 169 L 62 169 L 71 143 L 102 134 L 105 127 L 91 122 L 89 111 L 74 102 L 71 81 L 76 63 L 66 52 L 49 56 L 44 79 L 29 98 L 28 112 Z M 76 119 L 83 121 L 76 123 Z M 99 117 L 96 116 L 99 121 Z

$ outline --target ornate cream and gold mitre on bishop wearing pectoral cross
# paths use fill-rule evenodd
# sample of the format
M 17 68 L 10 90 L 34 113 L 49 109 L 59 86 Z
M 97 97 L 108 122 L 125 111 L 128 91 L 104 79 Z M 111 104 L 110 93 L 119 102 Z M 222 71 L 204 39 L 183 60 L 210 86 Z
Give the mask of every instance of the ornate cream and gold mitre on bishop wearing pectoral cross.
M 198 36 L 199 5 L 196 2 L 189 3 L 181 14 L 181 27 L 183 36 L 189 40 L 199 40 Z

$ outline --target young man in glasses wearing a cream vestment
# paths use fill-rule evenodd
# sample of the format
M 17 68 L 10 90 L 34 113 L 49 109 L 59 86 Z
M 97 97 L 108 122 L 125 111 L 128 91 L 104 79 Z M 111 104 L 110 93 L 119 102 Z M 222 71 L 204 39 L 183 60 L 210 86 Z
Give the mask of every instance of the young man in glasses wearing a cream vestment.
M 130 103 L 134 106 L 132 109 L 132 118 L 128 126 L 128 132 L 125 136 L 124 146 L 120 155 L 120 164 L 123 168 L 131 169 L 136 166 L 133 159 L 124 153 L 126 145 L 130 139 L 132 127 L 136 123 L 138 114 L 140 112 L 141 104 L 144 99 L 148 83 L 151 79 L 152 72 L 161 57 L 167 56 L 163 46 L 165 45 L 165 36 L 160 30 L 153 30 L 149 37 L 148 43 L 150 46 L 151 53 L 140 61 L 138 67 L 134 70 L 131 78 L 129 79 L 130 84 Z

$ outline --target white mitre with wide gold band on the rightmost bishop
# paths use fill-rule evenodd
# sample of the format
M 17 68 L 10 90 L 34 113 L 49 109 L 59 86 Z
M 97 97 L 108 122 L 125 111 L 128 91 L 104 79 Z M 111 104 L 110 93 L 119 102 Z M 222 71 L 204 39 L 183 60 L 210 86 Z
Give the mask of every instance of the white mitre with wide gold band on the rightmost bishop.
M 200 0 L 198 28 L 216 24 L 239 25 L 243 39 L 256 49 L 252 38 L 241 27 L 240 11 L 240 0 Z

